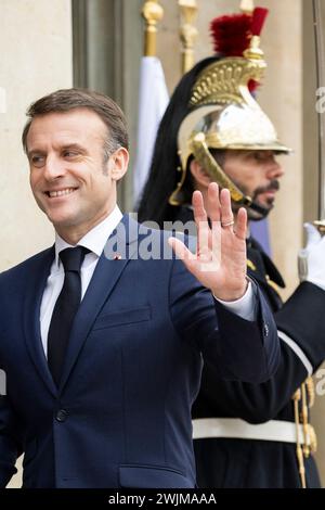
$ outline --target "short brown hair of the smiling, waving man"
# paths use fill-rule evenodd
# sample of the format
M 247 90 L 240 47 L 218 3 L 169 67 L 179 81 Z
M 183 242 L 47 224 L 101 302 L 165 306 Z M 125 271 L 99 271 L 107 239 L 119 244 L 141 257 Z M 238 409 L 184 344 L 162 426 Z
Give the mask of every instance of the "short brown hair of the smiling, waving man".
M 22 136 L 24 151 L 27 153 L 27 135 L 35 117 L 82 107 L 96 113 L 107 127 L 108 137 L 104 143 L 105 157 L 108 158 L 120 146 L 129 148 L 127 123 L 118 104 L 100 92 L 73 88 L 56 90 L 29 106 L 26 112 L 28 120 Z

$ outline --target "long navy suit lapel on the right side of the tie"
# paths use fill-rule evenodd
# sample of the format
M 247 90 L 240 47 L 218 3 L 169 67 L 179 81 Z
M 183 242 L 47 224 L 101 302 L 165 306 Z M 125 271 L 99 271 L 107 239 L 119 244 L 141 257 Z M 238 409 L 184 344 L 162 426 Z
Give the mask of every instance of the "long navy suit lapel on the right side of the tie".
M 115 230 L 107 240 L 74 321 L 60 391 L 69 377 L 93 322 L 138 248 L 138 224 L 125 215 L 116 229 L 117 232 Z M 118 253 L 115 252 L 114 255 L 112 247 L 116 245 Z

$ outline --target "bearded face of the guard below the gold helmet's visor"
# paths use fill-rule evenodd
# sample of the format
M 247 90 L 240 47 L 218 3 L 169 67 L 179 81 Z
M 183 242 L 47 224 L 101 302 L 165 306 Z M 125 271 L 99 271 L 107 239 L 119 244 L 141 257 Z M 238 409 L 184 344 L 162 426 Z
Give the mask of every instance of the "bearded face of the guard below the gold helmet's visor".
M 223 170 L 246 195 L 271 209 L 284 171 L 273 151 L 226 151 Z

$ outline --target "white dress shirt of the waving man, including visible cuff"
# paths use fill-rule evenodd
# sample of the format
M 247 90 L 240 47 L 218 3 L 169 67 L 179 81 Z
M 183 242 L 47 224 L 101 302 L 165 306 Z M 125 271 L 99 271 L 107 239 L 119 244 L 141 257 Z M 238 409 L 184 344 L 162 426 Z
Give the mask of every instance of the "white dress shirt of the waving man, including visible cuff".
M 84 246 L 90 251 L 90 253 L 84 256 L 83 263 L 81 265 L 81 299 L 86 294 L 86 291 L 93 276 L 99 258 L 104 250 L 106 241 L 112 234 L 113 230 L 120 222 L 122 214 L 119 207 L 116 205 L 109 216 L 107 216 L 102 222 L 96 225 L 92 230 L 87 232 L 87 234 L 83 235 L 83 238 L 80 239 L 80 241 L 77 243 L 77 246 Z M 48 333 L 53 309 L 64 283 L 64 268 L 63 264 L 60 260 L 58 254 L 67 247 L 75 246 L 65 242 L 56 233 L 55 258 L 51 266 L 50 276 L 47 281 L 40 307 L 40 330 L 46 356 L 48 355 Z M 231 311 L 240 316 L 243 319 L 255 319 L 256 298 L 253 296 L 250 282 L 248 283 L 248 288 L 245 295 L 240 297 L 240 299 L 237 299 L 235 302 L 222 302 L 221 299 L 218 301 L 220 301 Z

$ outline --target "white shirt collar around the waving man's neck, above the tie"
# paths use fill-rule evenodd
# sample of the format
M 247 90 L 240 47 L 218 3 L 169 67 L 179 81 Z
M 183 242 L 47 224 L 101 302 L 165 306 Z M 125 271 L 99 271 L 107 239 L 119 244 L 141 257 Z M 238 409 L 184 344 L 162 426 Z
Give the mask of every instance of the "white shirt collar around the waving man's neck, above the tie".
M 90 252 L 94 253 L 98 257 L 102 255 L 104 246 L 106 244 L 107 239 L 112 234 L 113 230 L 117 227 L 122 218 L 122 214 L 120 208 L 116 205 L 112 213 L 103 219 L 99 225 L 96 225 L 93 229 L 87 232 L 83 238 L 76 244 L 76 246 L 84 246 Z M 57 232 L 55 232 L 55 266 L 58 268 L 58 254 L 62 250 L 66 247 L 75 247 L 72 244 L 68 244 L 64 241 Z

